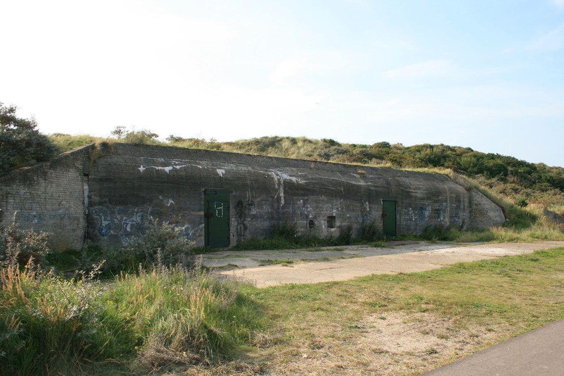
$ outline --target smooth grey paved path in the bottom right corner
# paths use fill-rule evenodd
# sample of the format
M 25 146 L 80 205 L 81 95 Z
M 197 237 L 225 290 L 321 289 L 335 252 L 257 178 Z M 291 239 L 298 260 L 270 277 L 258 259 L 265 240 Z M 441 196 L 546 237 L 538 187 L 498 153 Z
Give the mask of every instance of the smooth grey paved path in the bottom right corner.
M 456 375 L 564 375 L 564 320 L 551 322 L 424 374 Z

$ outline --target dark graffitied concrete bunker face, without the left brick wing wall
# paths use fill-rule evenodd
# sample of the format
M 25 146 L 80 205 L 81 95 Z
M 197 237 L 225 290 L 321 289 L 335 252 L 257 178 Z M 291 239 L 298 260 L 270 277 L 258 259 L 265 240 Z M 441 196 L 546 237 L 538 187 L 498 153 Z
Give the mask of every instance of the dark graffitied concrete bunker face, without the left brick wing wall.
M 88 237 L 104 246 L 127 244 L 149 216 L 204 245 L 205 189 L 233 192 L 231 245 L 268 235 L 283 222 L 321 237 L 336 237 L 349 225 L 356 236 L 372 221 L 381 229 L 383 199 L 396 202 L 398 233 L 505 220 L 481 193 L 470 194 L 445 175 L 147 145 L 114 144 L 107 154 L 90 171 L 88 215 Z M 490 211 L 495 214 L 483 214 Z

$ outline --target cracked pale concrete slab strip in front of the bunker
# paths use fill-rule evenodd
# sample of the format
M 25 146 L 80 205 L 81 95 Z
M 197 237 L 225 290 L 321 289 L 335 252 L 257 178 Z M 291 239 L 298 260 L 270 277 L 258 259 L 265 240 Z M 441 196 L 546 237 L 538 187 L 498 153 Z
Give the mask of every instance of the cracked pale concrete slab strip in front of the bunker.
M 444 246 L 448 246 L 444 248 Z M 564 246 L 564 241 L 535 243 L 502 243 L 482 245 L 444 245 L 411 242 L 394 245 L 394 248 L 342 247 L 343 251 L 328 250 L 328 254 L 341 257 L 364 256 L 362 258 L 324 261 L 322 252 L 284 251 L 240 251 L 231 252 L 230 258 L 221 258 L 226 252 L 206 255 L 202 258 L 209 267 L 230 265 L 230 270 L 218 270 L 222 275 L 253 282 L 257 287 L 290 283 L 312 284 L 317 282 L 346 281 L 372 274 L 396 274 L 422 272 L 438 269 L 459 262 L 493 259 L 505 255 L 532 253 Z M 362 253 L 362 255 L 361 255 Z M 370 255 L 373 253 L 373 255 Z M 387 253 L 387 254 L 385 254 Z M 238 256 L 238 257 L 236 257 Z M 217 257 L 213 259 L 214 257 Z M 334 257 L 334 256 L 333 256 Z M 319 262 L 289 263 L 258 266 L 267 259 L 318 259 Z

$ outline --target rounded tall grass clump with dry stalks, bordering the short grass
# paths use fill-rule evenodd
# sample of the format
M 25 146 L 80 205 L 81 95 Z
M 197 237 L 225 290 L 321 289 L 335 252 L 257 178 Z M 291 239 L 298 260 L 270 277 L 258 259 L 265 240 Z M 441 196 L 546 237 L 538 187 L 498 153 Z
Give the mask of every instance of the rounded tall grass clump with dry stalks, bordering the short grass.
M 160 267 L 116 284 L 107 304 L 135 322 L 143 339 L 137 360 L 149 367 L 221 359 L 257 329 L 258 307 L 234 282 L 202 268 Z

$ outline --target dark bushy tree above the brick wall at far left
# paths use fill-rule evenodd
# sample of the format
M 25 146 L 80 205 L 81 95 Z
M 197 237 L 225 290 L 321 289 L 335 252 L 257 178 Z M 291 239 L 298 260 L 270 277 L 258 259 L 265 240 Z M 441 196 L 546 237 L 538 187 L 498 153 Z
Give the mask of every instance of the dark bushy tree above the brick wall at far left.
M 16 116 L 17 107 L 0 102 L 0 174 L 30 160 L 46 161 L 59 152 L 46 135 L 36 130 L 37 122 Z

